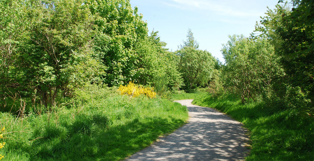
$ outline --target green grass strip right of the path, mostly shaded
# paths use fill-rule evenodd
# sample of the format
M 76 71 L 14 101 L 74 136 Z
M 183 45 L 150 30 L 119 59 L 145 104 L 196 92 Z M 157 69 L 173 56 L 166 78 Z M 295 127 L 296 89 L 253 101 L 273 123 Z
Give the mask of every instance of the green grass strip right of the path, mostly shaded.
M 181 96 L 176 96 L 181 98 Z M 297 109 L 279 110 L 263 102 L 242 104 L 234 95 L 185 94 L 193 104 L 218 109 L 250 131 L 252 149 L 246 160 L 314 160 L 314 118 Z

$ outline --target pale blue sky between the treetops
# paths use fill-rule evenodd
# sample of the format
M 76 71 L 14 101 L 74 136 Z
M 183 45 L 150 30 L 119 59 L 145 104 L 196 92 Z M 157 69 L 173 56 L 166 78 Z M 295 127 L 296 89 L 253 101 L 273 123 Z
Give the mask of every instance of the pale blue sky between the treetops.
M 130 0 L 138 13 L 147 20 L 149 33 L 159 31 L 160 40 L 169 51 L 176 51 L 186 40 L 188 29 L 199 43 L 225 62 L 220 49 L 229 40 L 228 35 L 250 36 L 256 21 L 265 16 L 267 6 L 275 8 L 278 0 Z

